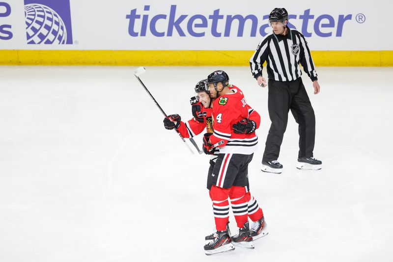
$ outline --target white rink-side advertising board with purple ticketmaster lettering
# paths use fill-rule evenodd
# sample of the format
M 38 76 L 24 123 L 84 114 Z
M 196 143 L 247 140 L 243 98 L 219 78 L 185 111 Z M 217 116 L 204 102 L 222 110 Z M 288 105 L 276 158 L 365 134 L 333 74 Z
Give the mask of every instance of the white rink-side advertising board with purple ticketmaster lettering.
M 0 0 L 0 49 L 253 50 L 275 7 L 312 50 L 393 49 L 384 0 Z

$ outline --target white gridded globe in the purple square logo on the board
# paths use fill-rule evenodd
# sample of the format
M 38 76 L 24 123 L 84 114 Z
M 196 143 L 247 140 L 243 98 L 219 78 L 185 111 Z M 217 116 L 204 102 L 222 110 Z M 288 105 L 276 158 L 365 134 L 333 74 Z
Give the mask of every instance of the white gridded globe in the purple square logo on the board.
M 67 29 L 61 17 L 43 4 L 25 5 L 28 44 L 65 44 Z

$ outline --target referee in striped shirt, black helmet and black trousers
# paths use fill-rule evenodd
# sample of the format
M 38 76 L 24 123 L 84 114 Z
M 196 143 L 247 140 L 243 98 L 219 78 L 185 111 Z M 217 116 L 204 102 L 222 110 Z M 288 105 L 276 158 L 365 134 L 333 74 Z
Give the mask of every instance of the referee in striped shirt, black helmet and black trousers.
M 275 8 L 269 15 L 269 24 L 273 32 L 259 43 L 250 59 L 251 71 L 258 85 L 266 87 L 262 77 L 262 64 L 267 62 L 269 78 L 268 109 L 272 125 L 266 139 L 262 158 L 262 171 L 281 173 L 282 165 L 278 162 L 282 138 L 288 122 L 288 112 L 299 124 L 298 169 L 318 170 L 322 161 L 313 157 L 315 141 L 315 115 L 309 96 L 303 85 L 300 65 L 309 75 L 314 87 L 314 94 L 320 87 L 307 41 L 303 34 L 289 29 L 288 12 L 285 8 Z

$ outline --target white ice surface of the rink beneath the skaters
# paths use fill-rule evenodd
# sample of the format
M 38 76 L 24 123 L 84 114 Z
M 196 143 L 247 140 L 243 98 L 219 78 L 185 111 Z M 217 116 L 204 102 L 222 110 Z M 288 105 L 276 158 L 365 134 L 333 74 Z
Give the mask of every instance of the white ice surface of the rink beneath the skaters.
M 135 68 L 0 66 L 1 262 L 393 261 L 393 68 L 317 68 L 318 95 L 303 75 L 323 168 L 296 169 L 289 116 L 273 175 L 268 92 L 248 67 L 146 67 L 167 114 L 191 118 L 195 84 L 224 69 L 262 116 L 249 177 L 269 234 L 210 257 L 209 157 L 164 128 Z

